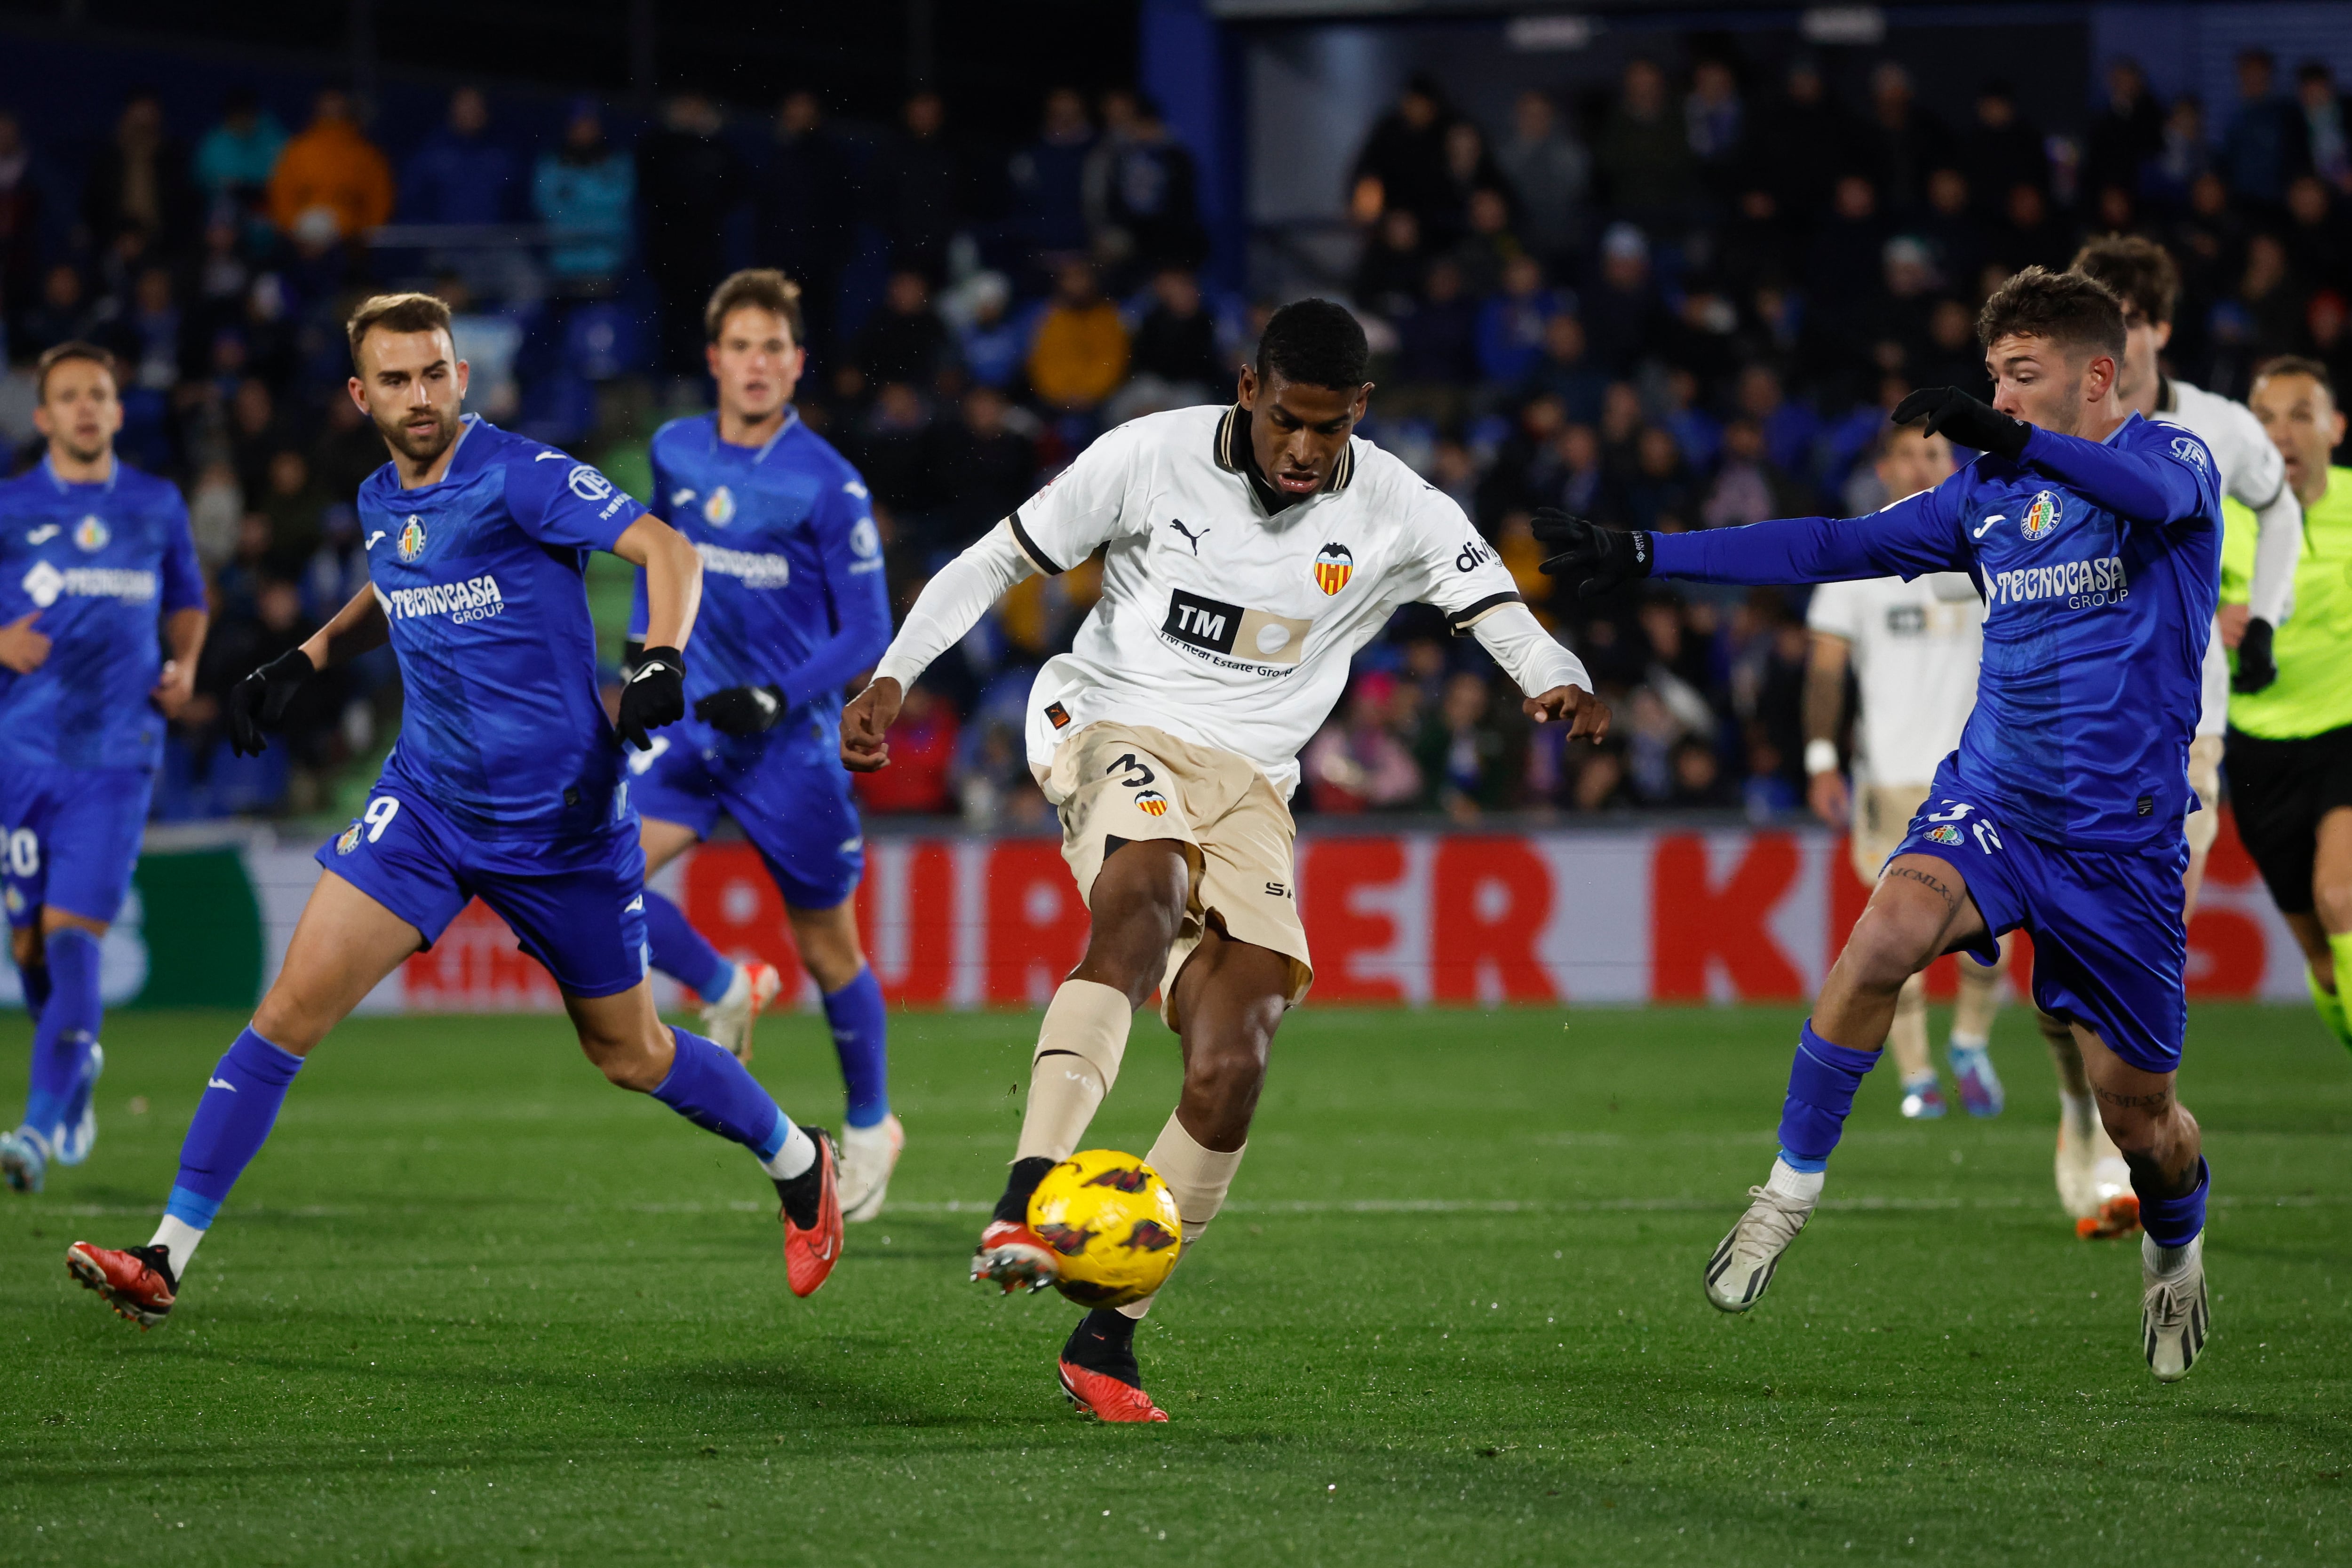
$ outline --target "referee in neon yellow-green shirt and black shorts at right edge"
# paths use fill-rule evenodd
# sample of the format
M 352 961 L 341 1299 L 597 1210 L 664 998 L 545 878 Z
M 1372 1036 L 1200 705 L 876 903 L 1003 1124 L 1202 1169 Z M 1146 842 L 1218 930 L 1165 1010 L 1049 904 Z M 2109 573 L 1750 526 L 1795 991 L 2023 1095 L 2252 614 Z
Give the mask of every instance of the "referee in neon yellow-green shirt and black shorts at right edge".
M 2277 628 L 2279 679 L 2230 693 L 2237 832 L 2303 943 L 2319 1018 L 2352 1048 L 2352 468 L 2328 468 L 2345 416 L 2317 360 L 2272 360 L 2246 397 L 2303 501 L 2296 614 Z M 2253 512 L 2223 508 L 2223 639 L 2246 628 Z

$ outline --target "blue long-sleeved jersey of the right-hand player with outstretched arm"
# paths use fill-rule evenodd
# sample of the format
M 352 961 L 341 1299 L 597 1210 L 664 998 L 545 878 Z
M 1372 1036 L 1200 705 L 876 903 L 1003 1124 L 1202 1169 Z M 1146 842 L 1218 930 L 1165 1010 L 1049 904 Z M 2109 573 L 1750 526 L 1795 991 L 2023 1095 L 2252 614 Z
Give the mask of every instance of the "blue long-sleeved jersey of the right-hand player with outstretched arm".
M 2220 595 L 2220 489 L 2187 430 L 2138 414 L 2105 442 L 2034 430 L 1870 517 L 1656 536 L 1658 576 L 1719 583 L 1969 571 L 1985 595 L 1976 712 L 1938 788 L 2020 832 L 2169 849 Z

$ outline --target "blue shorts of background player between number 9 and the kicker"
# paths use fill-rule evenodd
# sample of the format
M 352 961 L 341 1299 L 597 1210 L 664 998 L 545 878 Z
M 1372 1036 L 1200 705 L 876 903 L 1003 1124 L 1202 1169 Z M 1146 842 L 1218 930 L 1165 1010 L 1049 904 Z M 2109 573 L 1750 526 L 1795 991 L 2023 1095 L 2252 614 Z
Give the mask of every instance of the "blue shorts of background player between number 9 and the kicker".
M 628 771 L 637 816 L 696 839 L 710 837 L 720 811 L 731 816 L 795 910 L 830 910 L 858 891 L 866 835 L 830 731 L 779 729 L 764 745 L 727 745 L 701 724 L 675 724 L 654 750 L 628 752 Z

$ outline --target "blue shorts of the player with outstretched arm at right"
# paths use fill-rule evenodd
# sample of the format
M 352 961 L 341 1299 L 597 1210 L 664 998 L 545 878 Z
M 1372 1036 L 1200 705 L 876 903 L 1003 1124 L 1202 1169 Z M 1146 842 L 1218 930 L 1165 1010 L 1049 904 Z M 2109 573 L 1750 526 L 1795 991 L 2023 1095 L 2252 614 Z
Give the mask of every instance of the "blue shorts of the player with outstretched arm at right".
M 2098 1032 L 2140 1072 L 2176 1072 L 2187 1034 L 2190 938 L 2180 919 L 2187 835 L 2171 849 L 2067 849 L 2004 827 L 1938 776 L 1898 856 L 1959 872 L 1990 933 L 1969 947 L 1994 964 L 1994 938 L 2034 938 L 2034 1004 Z

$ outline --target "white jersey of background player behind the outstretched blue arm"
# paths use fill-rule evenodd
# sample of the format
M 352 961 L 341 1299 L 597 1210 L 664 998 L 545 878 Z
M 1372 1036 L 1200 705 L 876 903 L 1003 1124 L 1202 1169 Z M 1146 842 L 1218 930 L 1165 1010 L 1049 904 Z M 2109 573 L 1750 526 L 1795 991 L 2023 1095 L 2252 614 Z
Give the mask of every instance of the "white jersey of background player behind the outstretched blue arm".
M 1924 785 L 1959 745 L 1985 658 L 1985 602 L 1964 571 L 1823 583 L 1804 616 L 1851 646 L 1863 710 L 1853 722 L 1853 773 L 1882 785 Z

